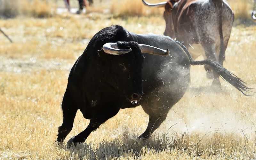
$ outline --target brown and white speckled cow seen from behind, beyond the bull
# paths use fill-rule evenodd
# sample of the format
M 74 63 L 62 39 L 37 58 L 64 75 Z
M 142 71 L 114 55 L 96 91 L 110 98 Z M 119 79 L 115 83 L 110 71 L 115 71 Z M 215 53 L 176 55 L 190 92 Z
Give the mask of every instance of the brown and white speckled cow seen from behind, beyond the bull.
M 225 0 L 169 0 L 157 4 L 142 1 L 148 6 L 165 8 L 164 35 L 183 41 L 194 59 L 200 54 L 193 45 L 201 44 L 205 58 L 223 65 L 234 21 L 234 13 Z M 207 77 L 214 79 L 212 84 L 220 86 L 219 76 L 212 68 L 204 68 L 208 70 Z

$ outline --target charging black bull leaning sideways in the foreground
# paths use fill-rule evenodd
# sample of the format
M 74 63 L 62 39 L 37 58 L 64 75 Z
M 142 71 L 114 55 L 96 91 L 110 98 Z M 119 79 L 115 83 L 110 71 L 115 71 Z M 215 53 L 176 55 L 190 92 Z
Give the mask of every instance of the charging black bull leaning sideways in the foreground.
M 119 49 L 132 51 L 122 55 L 106 54 L 102 46 L 109 42 L 118 42 Z M 138 44 L 168 48 L 170 55 L 143 56 Z M 218 62 L 194 61 L 183 44 L 169 36 L 134 34 L 117 25 L 100 30 L 70 71 L 62 101 L 63 123 L 59 127 L 56 142 L 62 142 L 71 131 L 78 109 L 84 118 L 90 119 L 90 123 L 83 132 L 68 141 L 68 146 L 84 142 L 92 131 L 115 116 L 120 108 L 134 108 L 139 105 L 149 115 L 148 127 L 139 138 L 147 139 L 187 91 L 190 65 L 205 64 L 210 65 L 244 95 L 249 92 L 249 88 L 240 78 Z M 143 94 L 142 87 L 144 95 L 140 99 Z M 138 103 L 134 103 L 136 100 Z

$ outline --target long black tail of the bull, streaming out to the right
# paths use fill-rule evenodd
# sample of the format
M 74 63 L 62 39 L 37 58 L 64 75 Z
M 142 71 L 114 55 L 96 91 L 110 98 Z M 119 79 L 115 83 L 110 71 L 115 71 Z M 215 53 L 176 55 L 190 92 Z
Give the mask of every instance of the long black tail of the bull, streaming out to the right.
M 214 60 L 200 60 L 200 61 L 193 60 L 193 58 L 191 57 L 187 48 L 182 43 L 180 43 L 179 41 L 176 41 L 176 43 L 179 44 L 181 46 L 181 48 L 186 52 L 191 65 L 193 65 L 193 66 L 195 66 L 195 65 L 205 65 L 205 64 L 209 65 L 209 66 L 212 67 L 212 69 L 218 75 L 220 75 L 224 80 L 226 80 L 228 83 L 233 85 L 238 91 L 242 92 L 244 95 L 249 96 L 246 93 L 253 92 L 253 91 L 251 91 L 252 88 L 248 88 L 245 85 L 247 83 L 245 83 L 243 81 L 243 79 L 241 79 L 241 78 L 237 77 L 236 75 L 234 75 L 233 73 L 229 72 L 226 68 L 224 68 L 222 65 L 220 65 L 220 63 L 218 63 Z

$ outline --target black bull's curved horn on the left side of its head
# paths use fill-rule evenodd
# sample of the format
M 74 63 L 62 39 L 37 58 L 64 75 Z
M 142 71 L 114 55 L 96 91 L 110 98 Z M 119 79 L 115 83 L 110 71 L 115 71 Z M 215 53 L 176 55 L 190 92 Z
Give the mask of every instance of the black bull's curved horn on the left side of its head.
M 103 51 L 108 53 L 108 54 L 114 54 L 114 55 L 118 55 L 118 54 L 125 54 L 128 52 L 131 52 L 132 50 L 120 50 L 118 49 L 118 46 L 116 43 L 106 43 L 103 45 Z

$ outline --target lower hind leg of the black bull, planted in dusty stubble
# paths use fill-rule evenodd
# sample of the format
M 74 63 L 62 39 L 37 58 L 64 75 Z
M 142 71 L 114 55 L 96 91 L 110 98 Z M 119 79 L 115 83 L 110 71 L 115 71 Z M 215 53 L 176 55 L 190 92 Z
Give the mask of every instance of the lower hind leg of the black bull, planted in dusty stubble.
M 148 127 L 144 133 L 142 133 L 139 139 L 148 139 L 151 133 L 153 133 L 166 119 L 167 113 L 164 115 L 149 115 Z

